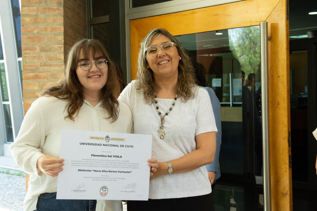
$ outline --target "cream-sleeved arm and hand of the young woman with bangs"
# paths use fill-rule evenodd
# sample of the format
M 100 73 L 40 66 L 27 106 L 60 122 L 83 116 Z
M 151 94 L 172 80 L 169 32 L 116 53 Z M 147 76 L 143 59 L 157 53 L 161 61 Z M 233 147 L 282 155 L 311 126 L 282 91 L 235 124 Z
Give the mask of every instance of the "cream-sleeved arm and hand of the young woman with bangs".
M 57 171 L 54 169 L 63 165 L 56 165 L 56 163 L 63 162 L 63 159 L 46 156 L 40 150 L 45 143 L 46 130 L 41 101 L 42 99 L 39 98 L 32 103 L 31 108 L 23 119 L 19 134 L 10 148 L 12 157 L 23 171 L 38 176 L 42 176 L 43 173 L 49 173 L 48 175 L 50 176 L 56 174 Z M 58 170 L 58 172 L 61 170 Z

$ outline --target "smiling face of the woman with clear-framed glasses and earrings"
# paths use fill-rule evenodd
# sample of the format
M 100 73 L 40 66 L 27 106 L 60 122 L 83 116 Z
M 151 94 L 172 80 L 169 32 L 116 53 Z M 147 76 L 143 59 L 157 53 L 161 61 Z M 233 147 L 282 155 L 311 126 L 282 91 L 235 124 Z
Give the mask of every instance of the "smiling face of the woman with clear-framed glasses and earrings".
M 166 42 L 172 41 L 165 35 L 160 34 L 153 38 L 149 46 L 161 46 Z M 171 52 L 168 53 L 164 52 L 161 47 L 159 47 L 159 52 L 154 56 L 146 53 L 146 60 L 153 71 L 154 78 L 178 76 L 179 54 L 175 45 Z

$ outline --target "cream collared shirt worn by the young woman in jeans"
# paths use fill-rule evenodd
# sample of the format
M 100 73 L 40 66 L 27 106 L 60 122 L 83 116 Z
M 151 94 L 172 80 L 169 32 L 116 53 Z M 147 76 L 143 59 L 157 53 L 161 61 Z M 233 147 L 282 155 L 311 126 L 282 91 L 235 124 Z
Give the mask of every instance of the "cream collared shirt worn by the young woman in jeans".
M 24 210 L 35 210 L 37 196 L 41 193 L 52 193 L 57 190 L 58 177 L 47 176 L 37 168 L 36 164 L 42 155 L 60 158 L 61 129 L 133 132 L 131 111 L 121 102 L 118 120 L 113 123 L 110 123 L 112 119 L 106 119 L 108 112 L 101 101 L 93 107 L 85 100 L 75 121 L 65 119 L 68 102 L 50 96 L 40 97 L 34 101 L 24 117 L 16 140 L 11 144 L 11 153 L 15 162 L 30 175 Z

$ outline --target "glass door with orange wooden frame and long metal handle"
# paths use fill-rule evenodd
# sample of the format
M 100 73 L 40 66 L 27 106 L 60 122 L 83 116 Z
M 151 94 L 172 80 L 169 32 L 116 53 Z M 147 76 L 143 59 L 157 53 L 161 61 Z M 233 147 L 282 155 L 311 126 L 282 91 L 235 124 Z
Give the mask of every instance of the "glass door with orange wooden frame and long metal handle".
M 288 61 L 288 34 L 284 34 L 286 30 L 279 30 L 287 28 L 285 7 L 283 0 L 246 0 L 181 12 L 175 8 L 176 12 L 170 14 L 156 13 L 153 7 L 139 19 L 136 16 L 141 12 L 127 15 L 130 61 L 127 63 L 131 80 L 136 77 L 140 41 L 151 29 L 165 28 L 191 54 L 197 69 L 204 75 L 206 86 L 215 91 L 221 103 L 221 177 L 213 194 L 215 210 L 262 210 L 264 203 L 265 210 L 292 208 L 290 147 L 283 142 L 288 140 L 289 132 L 286 103 L 289 74 L 286 74 L 288 65 L 285 62 Z M 164 8 L 166 10 L 170 11 Z M 260 22 L 268 22 L 267 34 L 272 38 L 271 42 L 266 42 L 270 78 L 263 84 L 260 66 L 264 63 L 260 64 L 260 30 L 256 26 Z M 264 89 L 264 85 L 268 85 L 268 89 Z M 269 112 L 260 103 L 261 87 L 263 91 L 268 90 L 266 94 L 271 94 Z M 263 111 L 266 115 L 262 116 Z M 270 124 L 262 131 L 267 118 Z M 270 146 L 262 148 L 262 134 L 268 134 L 268 130 Z M 262 158 L 262 150 L 269 153 L 271 160 Z M 270 166 L 263 165 L 263 161 Z M 268 171 L 263 171 L 267 168 L 269 176 L 265 173 Z M 263 180 L 263 175 L 271 182 Z M 263 200 L 263 189 L 267 188 L 271 188 L 271 195 Z

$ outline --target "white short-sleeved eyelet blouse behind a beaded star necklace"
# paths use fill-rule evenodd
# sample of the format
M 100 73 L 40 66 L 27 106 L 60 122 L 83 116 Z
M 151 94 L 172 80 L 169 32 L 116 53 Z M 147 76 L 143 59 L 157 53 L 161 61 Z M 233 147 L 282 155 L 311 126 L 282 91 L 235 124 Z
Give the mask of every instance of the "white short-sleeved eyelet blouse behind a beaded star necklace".
M 206 90 L 196 86 L 194 98 L 187 102 L 177 99 L 174 108 L 165 116 L 164 139 L 157 132 L 160 116 L 155 103 L 146 104 L 143 94 L 132 81 L 118 98 L 132 111 L 134 133 L 152 135 L 152 157 L 160 162 L 180 158 L 196 150 L 195 137 L 201 133 L 216 131 L 210 97 Z M 174 99 L 157 98 L 162 115 L 171 107 Z M 149 198 L 181 198 L 205 195 L 211 192 L 208 172 L 204 166 L 193 171 L 168 174 L 150 180 Z

